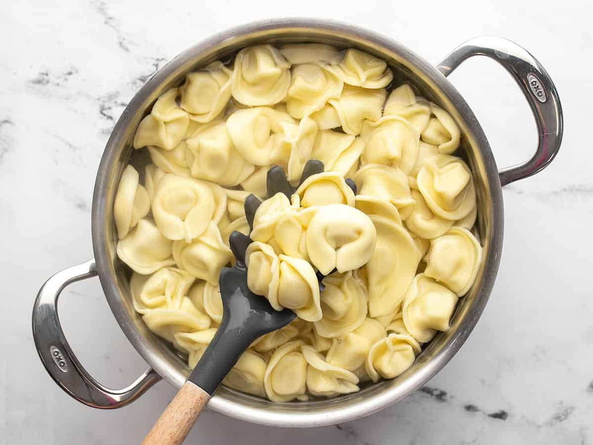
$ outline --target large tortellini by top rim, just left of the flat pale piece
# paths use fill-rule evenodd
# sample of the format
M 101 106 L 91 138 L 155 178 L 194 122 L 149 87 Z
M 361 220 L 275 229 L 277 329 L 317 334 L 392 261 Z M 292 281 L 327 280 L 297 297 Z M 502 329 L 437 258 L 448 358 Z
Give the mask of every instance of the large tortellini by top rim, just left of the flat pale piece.
M 291 85 L 291 63 L 271 45 L 242 49 L 235 57 L 231 91 L 247 106 L 274 105 Z

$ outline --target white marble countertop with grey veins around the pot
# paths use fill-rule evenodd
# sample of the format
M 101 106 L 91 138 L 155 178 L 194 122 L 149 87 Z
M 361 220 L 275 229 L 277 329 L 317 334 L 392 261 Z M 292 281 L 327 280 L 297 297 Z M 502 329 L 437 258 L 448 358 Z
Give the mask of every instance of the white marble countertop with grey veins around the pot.
M 95 171 L 114 122 L 152 72 L 211 33 L 264 17 L 337 18 L 384 33 L 437 62 L 480 34 L 527 47 L 550 72 L 566 118 L 549 169 L 506 187 L 502 263 L 466 345 L 429 383 L 347 424 L 264 428 L 206 412 L 187 443 L 593 444 L 593 116 L 588 2 L 474 1 L 12 2 L 0 15 L 0 443 L 138 443 L 174 395 L 160 383 L 117 411 L 87 408 L 47 376 L 30 310 L 49 275 L 91 258 Z M 527 158 L 527 104 L 495 63 L 451 78 L 479 117 L 499 166 Z M 82 363 L 108 386 L 145 368 L 97 279 L 60 302 Z M 432 393 L 431 394 L 429 394 Z

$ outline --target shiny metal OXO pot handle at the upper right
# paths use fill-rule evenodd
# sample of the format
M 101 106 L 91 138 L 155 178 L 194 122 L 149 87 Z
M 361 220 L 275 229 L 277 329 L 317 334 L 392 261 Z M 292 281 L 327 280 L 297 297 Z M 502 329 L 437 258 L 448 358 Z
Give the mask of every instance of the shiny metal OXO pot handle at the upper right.
M 563 131 L 562 107 L 548 73 L 534 56 L 517 43 L 493 36 L 476 37 L 462 43 L 436 69 L 448 76 L 472 56 L 494 59 L 512 75 L 525 94 L 537 124 L 537 151 L 527 162 L 499 171 L 500 184 L 505 186 L 545 169 L 560 150 Z

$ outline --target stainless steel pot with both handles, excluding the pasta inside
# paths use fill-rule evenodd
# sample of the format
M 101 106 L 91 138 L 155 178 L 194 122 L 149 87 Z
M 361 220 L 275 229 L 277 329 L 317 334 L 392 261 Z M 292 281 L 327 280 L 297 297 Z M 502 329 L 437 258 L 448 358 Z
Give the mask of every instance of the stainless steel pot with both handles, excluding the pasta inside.
M 503 234 L 502 189 L 510 182 L 544 169 L 562 139 L 560 101 L 546 70 L 522 47 L 500 37 L 478 37 L 455 49 L 436 67 L 403 45 L 364 29 L 326 20 L 265 20 L 224 31 L 185 50 L 142 87 L 117 121 L 107 142 L 93 195 L 94 259 L 53 275 L 39 291 L 33 309 L 33 334 L 47 372 L 69 395 L 95 408 L 119 408 L 138 398 L 161 377 L 179 388 L 189 368 L 170 347 L 153 335 L 132 306 L 127 278 L 116 257 L 113 201 L 120 175 L 132 152 L 136 126 L 157 97 L 180 84 L 184 75 L 215 59 L 228 58 L 256 43 L 325 42 L 357 47 L 374 54 L 393 69 L 396 81 L 412 82 L 423 96 L 444 107 L 461 129 L 464 157 L 474 173 L 479 205 L 477 228 L 484 261 L 476 284 L 460 300 L 451 329 L 439 333 L 406 372 L 393 380 L 371 384 L 358 393 L 329 400 L 273 403 L 225 387 L 217 390 L 210 408 L 238 419 L 280 427 L 313 427 L 363 417 L 403 399 L 428 382 L 466 341 L 492 291 L 500 262 Z M 539 143 L 533 158 L 502 171 L 484 132 L 460 93 L 447 80 L 465 59 L 494 59 L 517 81 L 531 106 Z M 108 389 L 91 377 L 76 359 L 63 335 L 56 304 L 68 284 L 98 275 L 107 302 L 123 332 L 150 368 L 122 390 Z

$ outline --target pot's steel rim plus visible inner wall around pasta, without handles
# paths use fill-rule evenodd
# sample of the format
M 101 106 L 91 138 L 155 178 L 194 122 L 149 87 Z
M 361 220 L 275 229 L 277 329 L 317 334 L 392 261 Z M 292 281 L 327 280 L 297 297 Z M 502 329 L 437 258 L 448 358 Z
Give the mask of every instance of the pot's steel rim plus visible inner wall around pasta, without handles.
M 390 65 L 394 85 L 409 82 L 422 96 L 451 113 L 461 129 L 462 157 L 473 170 L 476 182 L 477 231 L 484 259 L 476 284 L 458 303 L 451 329 L 436 335 L 412 367 L 395 379 L 369 384 L 358 393 L 338 398 L 287 403 L 270 402 L 220 387 L 209 403 L 211 408 L 232 417 L 287 427 L 334 424 L 371 414 L 409 395 L 434 376 L 461 347 L 482 313 L 498 271 L 503 228 L 498 171 L 482 129 L 457 90 L 419 56 L 378 34 L 327 21 L 265 21 L 213 36 L 174 58 L 133 97 L 107 143 L 94 191 L 93 246 L 107 301 L 127 338 L 165 380 L 180 387 L 190 370 L 184 358 L 152 334 L 133 309 L 128 285 L 130 272 L 117 259 L 115 249 L 113 201 L 120 175 L 128 162 L 141 167 L 150 161 L 146 150 L 132 149 L 136 126 L 157 97 L 180 85 L 187 72 L 216 59 L 228 60 L 245 46 L 297 42 L 330 43 L 343 49 L 357 47 L 374 54 Z

